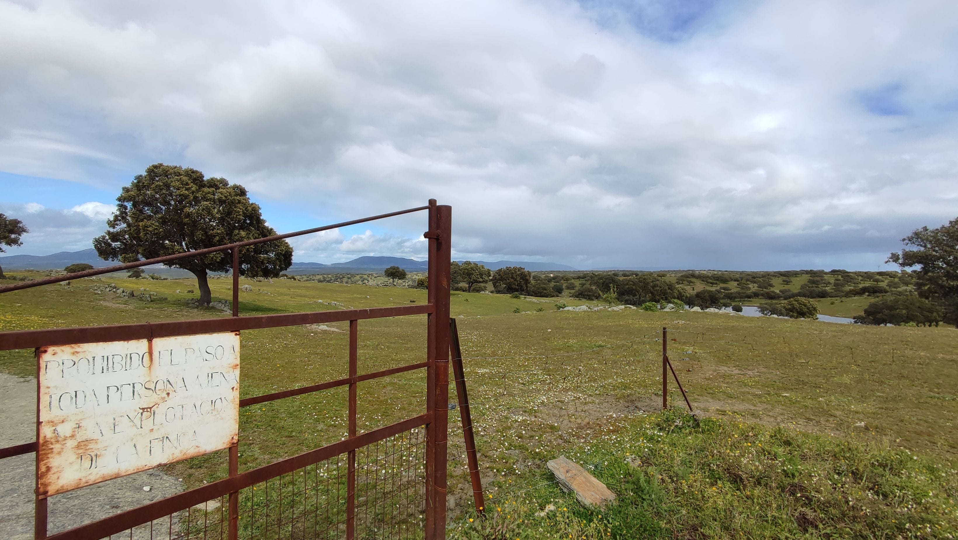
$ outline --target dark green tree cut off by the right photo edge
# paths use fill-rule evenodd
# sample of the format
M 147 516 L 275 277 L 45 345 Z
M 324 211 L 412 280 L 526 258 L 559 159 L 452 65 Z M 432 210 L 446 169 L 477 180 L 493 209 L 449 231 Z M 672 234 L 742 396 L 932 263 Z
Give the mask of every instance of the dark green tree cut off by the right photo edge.
M 901 242 L 914 248 L 892 253 L 887 262 L 901 269 L 918 267 L 910 277 L 919 297 L 942 306 L 944 322 L 958 325 L 958 218 L 937 228 L 915 229 Z

